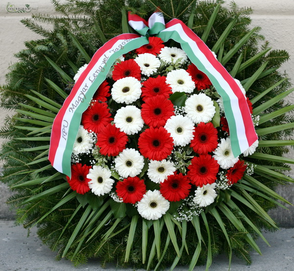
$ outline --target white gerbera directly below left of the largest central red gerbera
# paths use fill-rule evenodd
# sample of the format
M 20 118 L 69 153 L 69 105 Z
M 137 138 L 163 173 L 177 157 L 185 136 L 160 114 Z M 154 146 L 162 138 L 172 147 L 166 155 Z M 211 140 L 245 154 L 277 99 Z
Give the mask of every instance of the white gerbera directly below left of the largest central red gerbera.
M 115 169 L 126 178 L 135 177 L 144 167 L 144 157 L 134 148 L 125 148 L 115 159 Z

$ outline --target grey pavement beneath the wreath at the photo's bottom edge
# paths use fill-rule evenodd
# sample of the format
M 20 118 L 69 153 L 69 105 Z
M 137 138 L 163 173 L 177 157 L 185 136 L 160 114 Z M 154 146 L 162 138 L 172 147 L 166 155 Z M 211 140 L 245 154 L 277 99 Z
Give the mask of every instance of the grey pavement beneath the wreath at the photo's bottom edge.
M 251 266 L 246 266 L 238 259 L 233 259 L 231 271 L 294 271 L 294 228 L 282 228 L 275 233 L 265 232 L 264 236 L 271 247 L 262 240 L 258 241 L 263 256 L 252 252 Z M 117 269 L 114 265 L 102 269 L 97 260 L 87 265 L 74 268 L 66 260 L 56 262 L 55 253 L 43 246 L 36 235 L 36 229 L 27 238 L 27 231 L 21 226 L 14 226 L 13 221 L 0 220 L 0 271 L 133 271 Z M 196 267 L 194 271 L 204 271 Z M 209 271 L 227 271 L 228 260 L 217 257 Z M 178 267 L 175 271 L 187 271 L 187 267 Z

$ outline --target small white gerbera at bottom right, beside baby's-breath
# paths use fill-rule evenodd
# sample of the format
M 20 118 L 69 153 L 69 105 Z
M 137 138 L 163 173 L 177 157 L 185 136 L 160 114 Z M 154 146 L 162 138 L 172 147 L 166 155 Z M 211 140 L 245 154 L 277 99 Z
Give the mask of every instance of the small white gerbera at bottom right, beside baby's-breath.
M 202 187 L 198 187 L 195 191 L 195 197 L 193 201 L 199 205 L 199 207 L 206 207 L 214 202 L 214 199 L 218 196 L 215 191 L 216 183 L 206 184 Z

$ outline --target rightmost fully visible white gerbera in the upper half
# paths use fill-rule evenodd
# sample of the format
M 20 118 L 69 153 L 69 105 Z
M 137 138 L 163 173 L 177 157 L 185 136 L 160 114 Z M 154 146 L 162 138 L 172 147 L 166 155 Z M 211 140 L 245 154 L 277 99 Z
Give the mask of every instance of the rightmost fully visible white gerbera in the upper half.
M 194 94 L 185 102 L 185 112 L 194 123 L 208 123 L 216 113 L 213 100 L 204 93 Z

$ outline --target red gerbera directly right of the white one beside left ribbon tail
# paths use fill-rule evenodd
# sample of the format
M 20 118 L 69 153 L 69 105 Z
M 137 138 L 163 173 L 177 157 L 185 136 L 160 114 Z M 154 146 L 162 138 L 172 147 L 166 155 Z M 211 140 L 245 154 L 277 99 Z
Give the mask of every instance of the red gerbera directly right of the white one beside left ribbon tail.
M 117 156 L 128 141 L 128 137 L 115 125 L 108 123 L 101 128 L 97 135 L 96 145 L 100 148 L 100 153 L 108 156 Z

